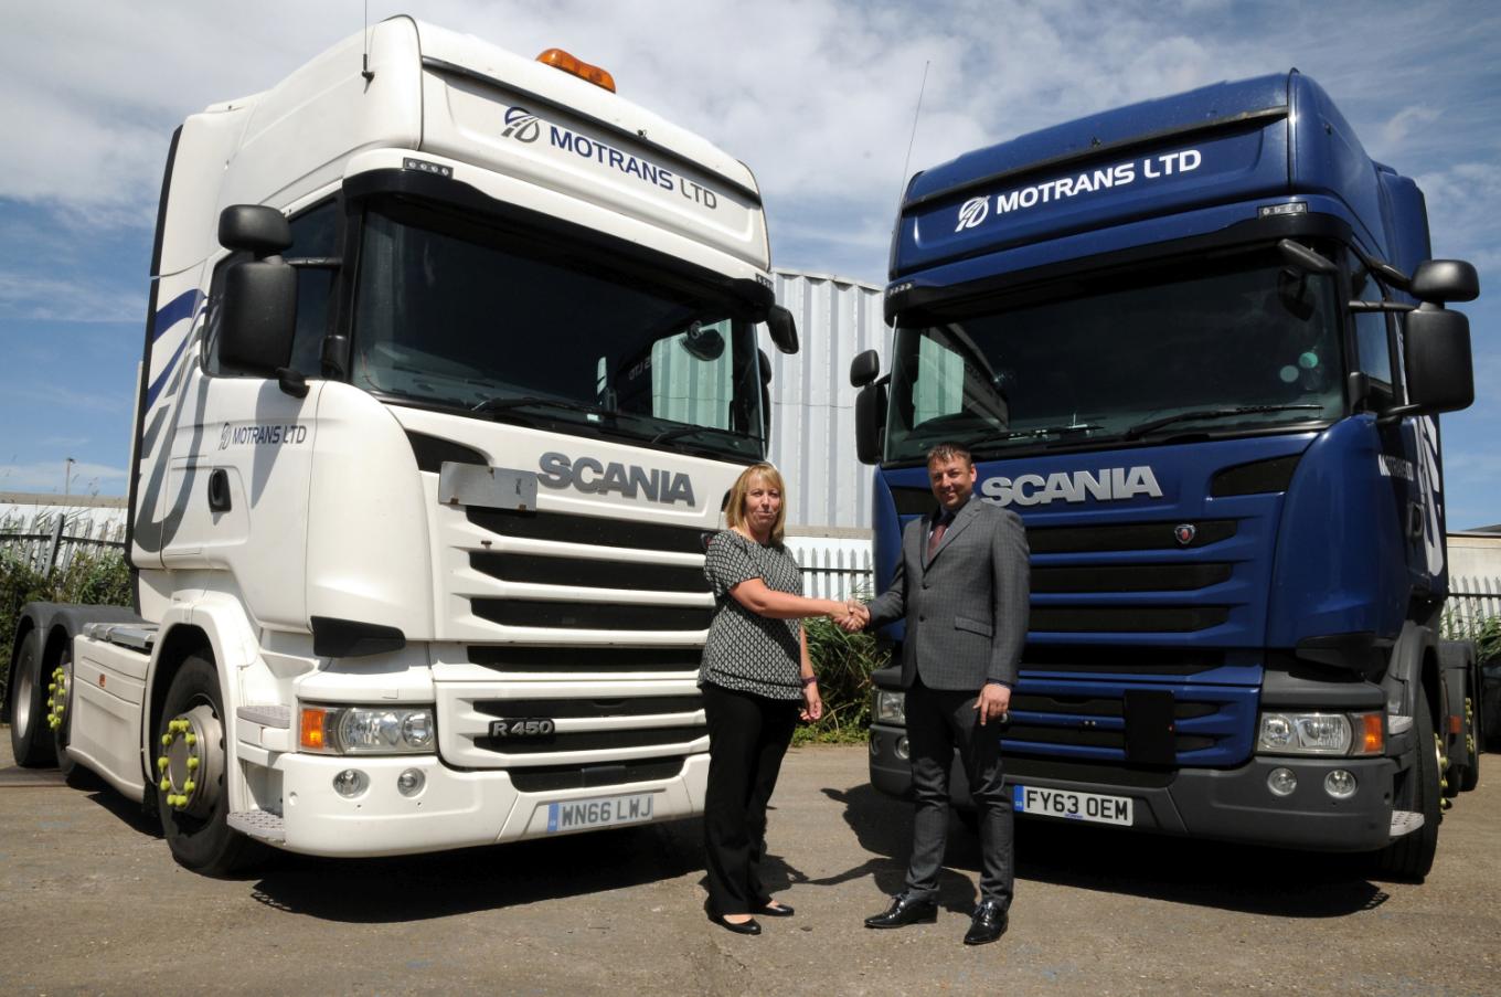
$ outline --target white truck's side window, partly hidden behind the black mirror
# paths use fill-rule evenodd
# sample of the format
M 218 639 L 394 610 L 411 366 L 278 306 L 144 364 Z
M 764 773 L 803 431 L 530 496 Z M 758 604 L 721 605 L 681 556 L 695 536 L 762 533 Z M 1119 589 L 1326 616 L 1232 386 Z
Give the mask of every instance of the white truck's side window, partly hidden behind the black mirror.
M 338 254 L 339 209 L 338 201 L 324 201 L 309 212 L 291 219 L 291 248 L 284 260 L 329 260 Z M 209 308 L 204 323 L 204 369 L 209 374 L 233 374 L 219 360 L 219 306 L 224 300 L 224 275 L 230 267 L 249 260 L 249 254 L 236 252 L 219 263 L 209 285 Z M 293 333 L 290 366 L 308 377 L 321 377 L 320 356 L 323 336 L 329 330 L 329 306 L 333 299 L 332 266 L 297 267 L 297 329 Z

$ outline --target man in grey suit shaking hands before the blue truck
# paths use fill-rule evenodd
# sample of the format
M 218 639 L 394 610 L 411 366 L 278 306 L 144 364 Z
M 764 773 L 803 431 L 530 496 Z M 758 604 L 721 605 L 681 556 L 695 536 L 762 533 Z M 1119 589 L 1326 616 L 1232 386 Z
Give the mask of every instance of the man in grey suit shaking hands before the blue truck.
M 980 815 L 980 904 L 965 944 L 1006 932 L 1012 904 L 1012 809 L 1001 785 L 1001 724 L 1027 637 L 1028 551 L 1021 518 L 974 497 L 974 461 L 952 443 L 928 452 L 938 508 L 907 524 L 892 587 L 866 604 L 866 626 L 907 620 L 902 688 L 911 745 L 913 857 L 907 889 L 868 928 L 938 919 L 955 751 Z

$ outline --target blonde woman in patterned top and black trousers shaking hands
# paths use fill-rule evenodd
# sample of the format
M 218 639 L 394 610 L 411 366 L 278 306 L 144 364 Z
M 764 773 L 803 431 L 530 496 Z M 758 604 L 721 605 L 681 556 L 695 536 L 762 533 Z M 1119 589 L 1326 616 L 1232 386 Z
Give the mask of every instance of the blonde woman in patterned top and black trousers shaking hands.
M 704 559 L 717 605 L 698 673 L 708 721 L 708 916 L 737 934 L 761 934 L 757 914 L 793 914 L 761 886 L 766 806 L 797 718 L 824 713 L 797 620 L 844 619 L 850 610 L 800 595 L 802 571 L 782 547 L 787 506 L 775 467 L 755 464 L 740 474 L 725 520 L 729 529 L 710 541 Z

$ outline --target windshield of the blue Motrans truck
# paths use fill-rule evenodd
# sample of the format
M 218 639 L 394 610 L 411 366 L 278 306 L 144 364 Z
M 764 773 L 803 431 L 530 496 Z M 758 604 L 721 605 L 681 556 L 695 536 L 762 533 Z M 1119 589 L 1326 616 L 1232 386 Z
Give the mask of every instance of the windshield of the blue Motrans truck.
M 898 326 L 886 459 L 1336 419 L 1334 296 L 1268 251 L 940 306 Z

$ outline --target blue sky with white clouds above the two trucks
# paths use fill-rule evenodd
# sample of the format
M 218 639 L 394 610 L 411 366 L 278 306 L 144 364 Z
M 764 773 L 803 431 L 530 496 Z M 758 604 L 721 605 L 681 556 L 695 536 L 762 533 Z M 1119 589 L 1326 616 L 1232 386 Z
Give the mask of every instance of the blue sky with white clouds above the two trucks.
M 775 266 L 883 284 L 905 177 L 1082 114 L 1297 68 L 1472 261 L 1478 399 L 1442 417 L 1450 530 L 1501 524 L 1501 5 L 1406 0 L 369 0 L 533 56 L 744 161 Z M 360 29 L 360 0 L 0 3 L 0 491 L 126 491 L 173 129 Z M 926 81 L 925 81 L 926 77 Z M 919 93 L 922 93 L 920 114 Z M 908 153 L 910 150 L 910 153 Z M 72 458 L 69 461 L 69 458 Z

